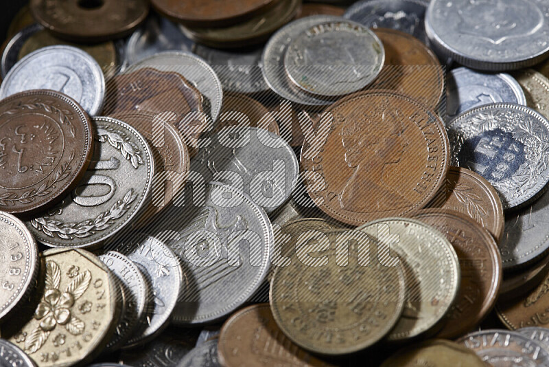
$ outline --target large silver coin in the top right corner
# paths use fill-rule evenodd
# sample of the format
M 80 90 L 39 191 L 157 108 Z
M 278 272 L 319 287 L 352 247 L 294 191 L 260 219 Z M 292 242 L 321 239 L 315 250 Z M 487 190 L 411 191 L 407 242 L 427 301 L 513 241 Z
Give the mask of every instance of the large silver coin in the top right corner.
M 441 54 L 461 65 L 520 69 L 549 55 L 549 2 L 432 0 L 425 32 Z

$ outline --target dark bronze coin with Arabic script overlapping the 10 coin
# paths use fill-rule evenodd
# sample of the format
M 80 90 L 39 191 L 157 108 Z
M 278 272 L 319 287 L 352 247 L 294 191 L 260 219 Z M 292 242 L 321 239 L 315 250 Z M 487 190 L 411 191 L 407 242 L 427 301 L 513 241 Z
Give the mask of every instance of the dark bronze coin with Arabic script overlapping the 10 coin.
M 30 213 L 62 199 L 91 160 L 91 120 L 57 91 L 0 101 L 0 210 Z

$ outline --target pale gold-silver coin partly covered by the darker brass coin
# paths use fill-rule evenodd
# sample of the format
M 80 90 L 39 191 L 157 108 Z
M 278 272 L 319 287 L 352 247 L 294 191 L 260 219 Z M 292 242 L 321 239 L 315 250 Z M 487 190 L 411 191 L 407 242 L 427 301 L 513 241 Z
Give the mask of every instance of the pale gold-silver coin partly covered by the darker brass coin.
M 358 230 L 378 243 L 390 243 L 404 267 L 404 312 L 388 340 L 407 340 L 436 329 L 457 299 L 460 287 L 458 256 L 447 238 L 414 219 L 379 219 Z M 395 240 L 395 234 L 399 239 Z

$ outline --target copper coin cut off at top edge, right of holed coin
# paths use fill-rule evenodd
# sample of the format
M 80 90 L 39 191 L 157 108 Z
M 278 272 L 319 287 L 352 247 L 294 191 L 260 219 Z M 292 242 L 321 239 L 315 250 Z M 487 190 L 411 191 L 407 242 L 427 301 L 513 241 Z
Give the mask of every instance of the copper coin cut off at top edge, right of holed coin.
M 246 21 L 277 4 L 279 0 L 152 0 L 163 16 L 191 27 L 226 27 Z

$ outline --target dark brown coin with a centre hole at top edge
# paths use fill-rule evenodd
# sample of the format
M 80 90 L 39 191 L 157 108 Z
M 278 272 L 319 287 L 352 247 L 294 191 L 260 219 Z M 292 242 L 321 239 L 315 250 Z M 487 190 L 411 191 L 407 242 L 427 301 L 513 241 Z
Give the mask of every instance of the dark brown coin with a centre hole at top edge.
M 31 0 L 32 15 L 47 30 L 69 41 L 122 38 L 145 21 L 147 0 Z

